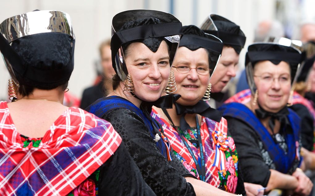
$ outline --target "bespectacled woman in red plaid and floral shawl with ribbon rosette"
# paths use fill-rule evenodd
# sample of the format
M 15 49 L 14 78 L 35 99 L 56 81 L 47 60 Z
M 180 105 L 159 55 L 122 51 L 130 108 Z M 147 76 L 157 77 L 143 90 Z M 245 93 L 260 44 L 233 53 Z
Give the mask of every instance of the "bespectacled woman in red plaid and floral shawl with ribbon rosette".
M 223 44 L 194 25 L 184 26 L 183 33 L 172 67 L 181 97 L 173 109 L 154 107 L 152 116 L 162 124 L 175 157 L 195 177 L 226 191 L 220 195 L 246 194 L 226 119 L 204 101 L 209 98 L 210 78 L 216 73 Z

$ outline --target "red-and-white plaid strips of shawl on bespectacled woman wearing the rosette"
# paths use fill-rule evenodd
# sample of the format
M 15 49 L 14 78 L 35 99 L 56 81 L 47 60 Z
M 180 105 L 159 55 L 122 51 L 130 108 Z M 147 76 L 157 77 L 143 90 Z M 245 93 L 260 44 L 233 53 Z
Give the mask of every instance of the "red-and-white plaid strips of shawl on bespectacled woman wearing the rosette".
M 183 141 L 181 140 L 180 136 L 178 135 L 178 133 L 174 129 L 174 127 L 171 126 L 167 122 L 167 120 L 161 118 L 161 116 L 154 109 L 152 109 L 151 115 L 154 119 L 156 119 L 162 125 L 163 130 L 164 130 L 164 134 L 168 137 L 169 142 L 170 142 L 173 150 L 176 151 L 181 157 L 183 157 L 188 162 L 189 165 L 184 164 L 185 167 L 188 170 L 189 170 L 188 167 L 190 167 L 190 166 L 196 169 L 196 165 L 192 159 L 191 154 L 189 153 L 188 149 L 184 145 Z M 219 185 L 220 185 L 219 169 L 217 167 L 213 167 L 213 162 L 214 162 L 214 158 L 215 158 L 215 144 L 213 142 L 212 136 L 210 135 L 210 133 L 212 131 L 215 131 L 215 130 L 219 130 L 219 131 L 227 134 L 227 121 L 226 121 L 226 119 L 222 118 L 220 123 L 218 123 L 218 122 L 215 122 L 211 119 L 207 119 L 207 118 L 203 117 L 201 125 L 200 125 L 200 134 L 201 134 L 201 140 L 202 140 L 203 148 L 205 151 L 206 182 L 215 186 L 215 187 L 219 187 Z M 200 157 L 199 149 L 196 148 L 194 145 L 192 145 L 192 143 L 189 142 L 189 140 L 187 140 L 186 138 L 185 138 L 185 140 L 189 144 L 189 146 L 191 147 L 194 155 L 196 156 L 196 158 L 198 160 L 198 158 Z M 226 157 L 226 158 L 228 158 L 228 157 Z M 194 173 L 192 173 L 192 174 L 195 175 Z M 197 173 L 196 177 L 199 179 L 198 173 Z

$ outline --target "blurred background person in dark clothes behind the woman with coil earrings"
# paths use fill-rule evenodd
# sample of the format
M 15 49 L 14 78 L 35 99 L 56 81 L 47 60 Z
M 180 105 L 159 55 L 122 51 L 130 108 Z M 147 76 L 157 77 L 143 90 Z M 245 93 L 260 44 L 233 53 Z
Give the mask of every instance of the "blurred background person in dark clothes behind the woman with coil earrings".
M 84 89 L 80 108 L 85 109 L 99 98 L 106 97 L 113 91 L 112 77 L 115 75 L 112 67 L 111 40 L 103 41 L 99 46 L 100 62 L 95 63 L 97 78 L 92 87 Z

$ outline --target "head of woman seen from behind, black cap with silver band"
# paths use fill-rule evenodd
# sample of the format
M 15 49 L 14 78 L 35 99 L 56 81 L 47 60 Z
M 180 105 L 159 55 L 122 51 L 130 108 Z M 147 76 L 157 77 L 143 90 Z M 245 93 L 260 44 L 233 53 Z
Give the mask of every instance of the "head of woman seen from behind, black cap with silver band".
M 65 89 L 74 66 L 75 39 L 70 16 L 59 11 L 33 11 L 22 15 L 25 17 L 14 16 L 0 24 L 1 32 L 10 29 L 2 32 L 6 39 L 2 39 L 6 47 L 2 52 L 19 93 L 27 96 L 34 88 Z M 30 28 L 12 28 L 23 23 Z M 11 38 L 10 34 L 15 36 Z

